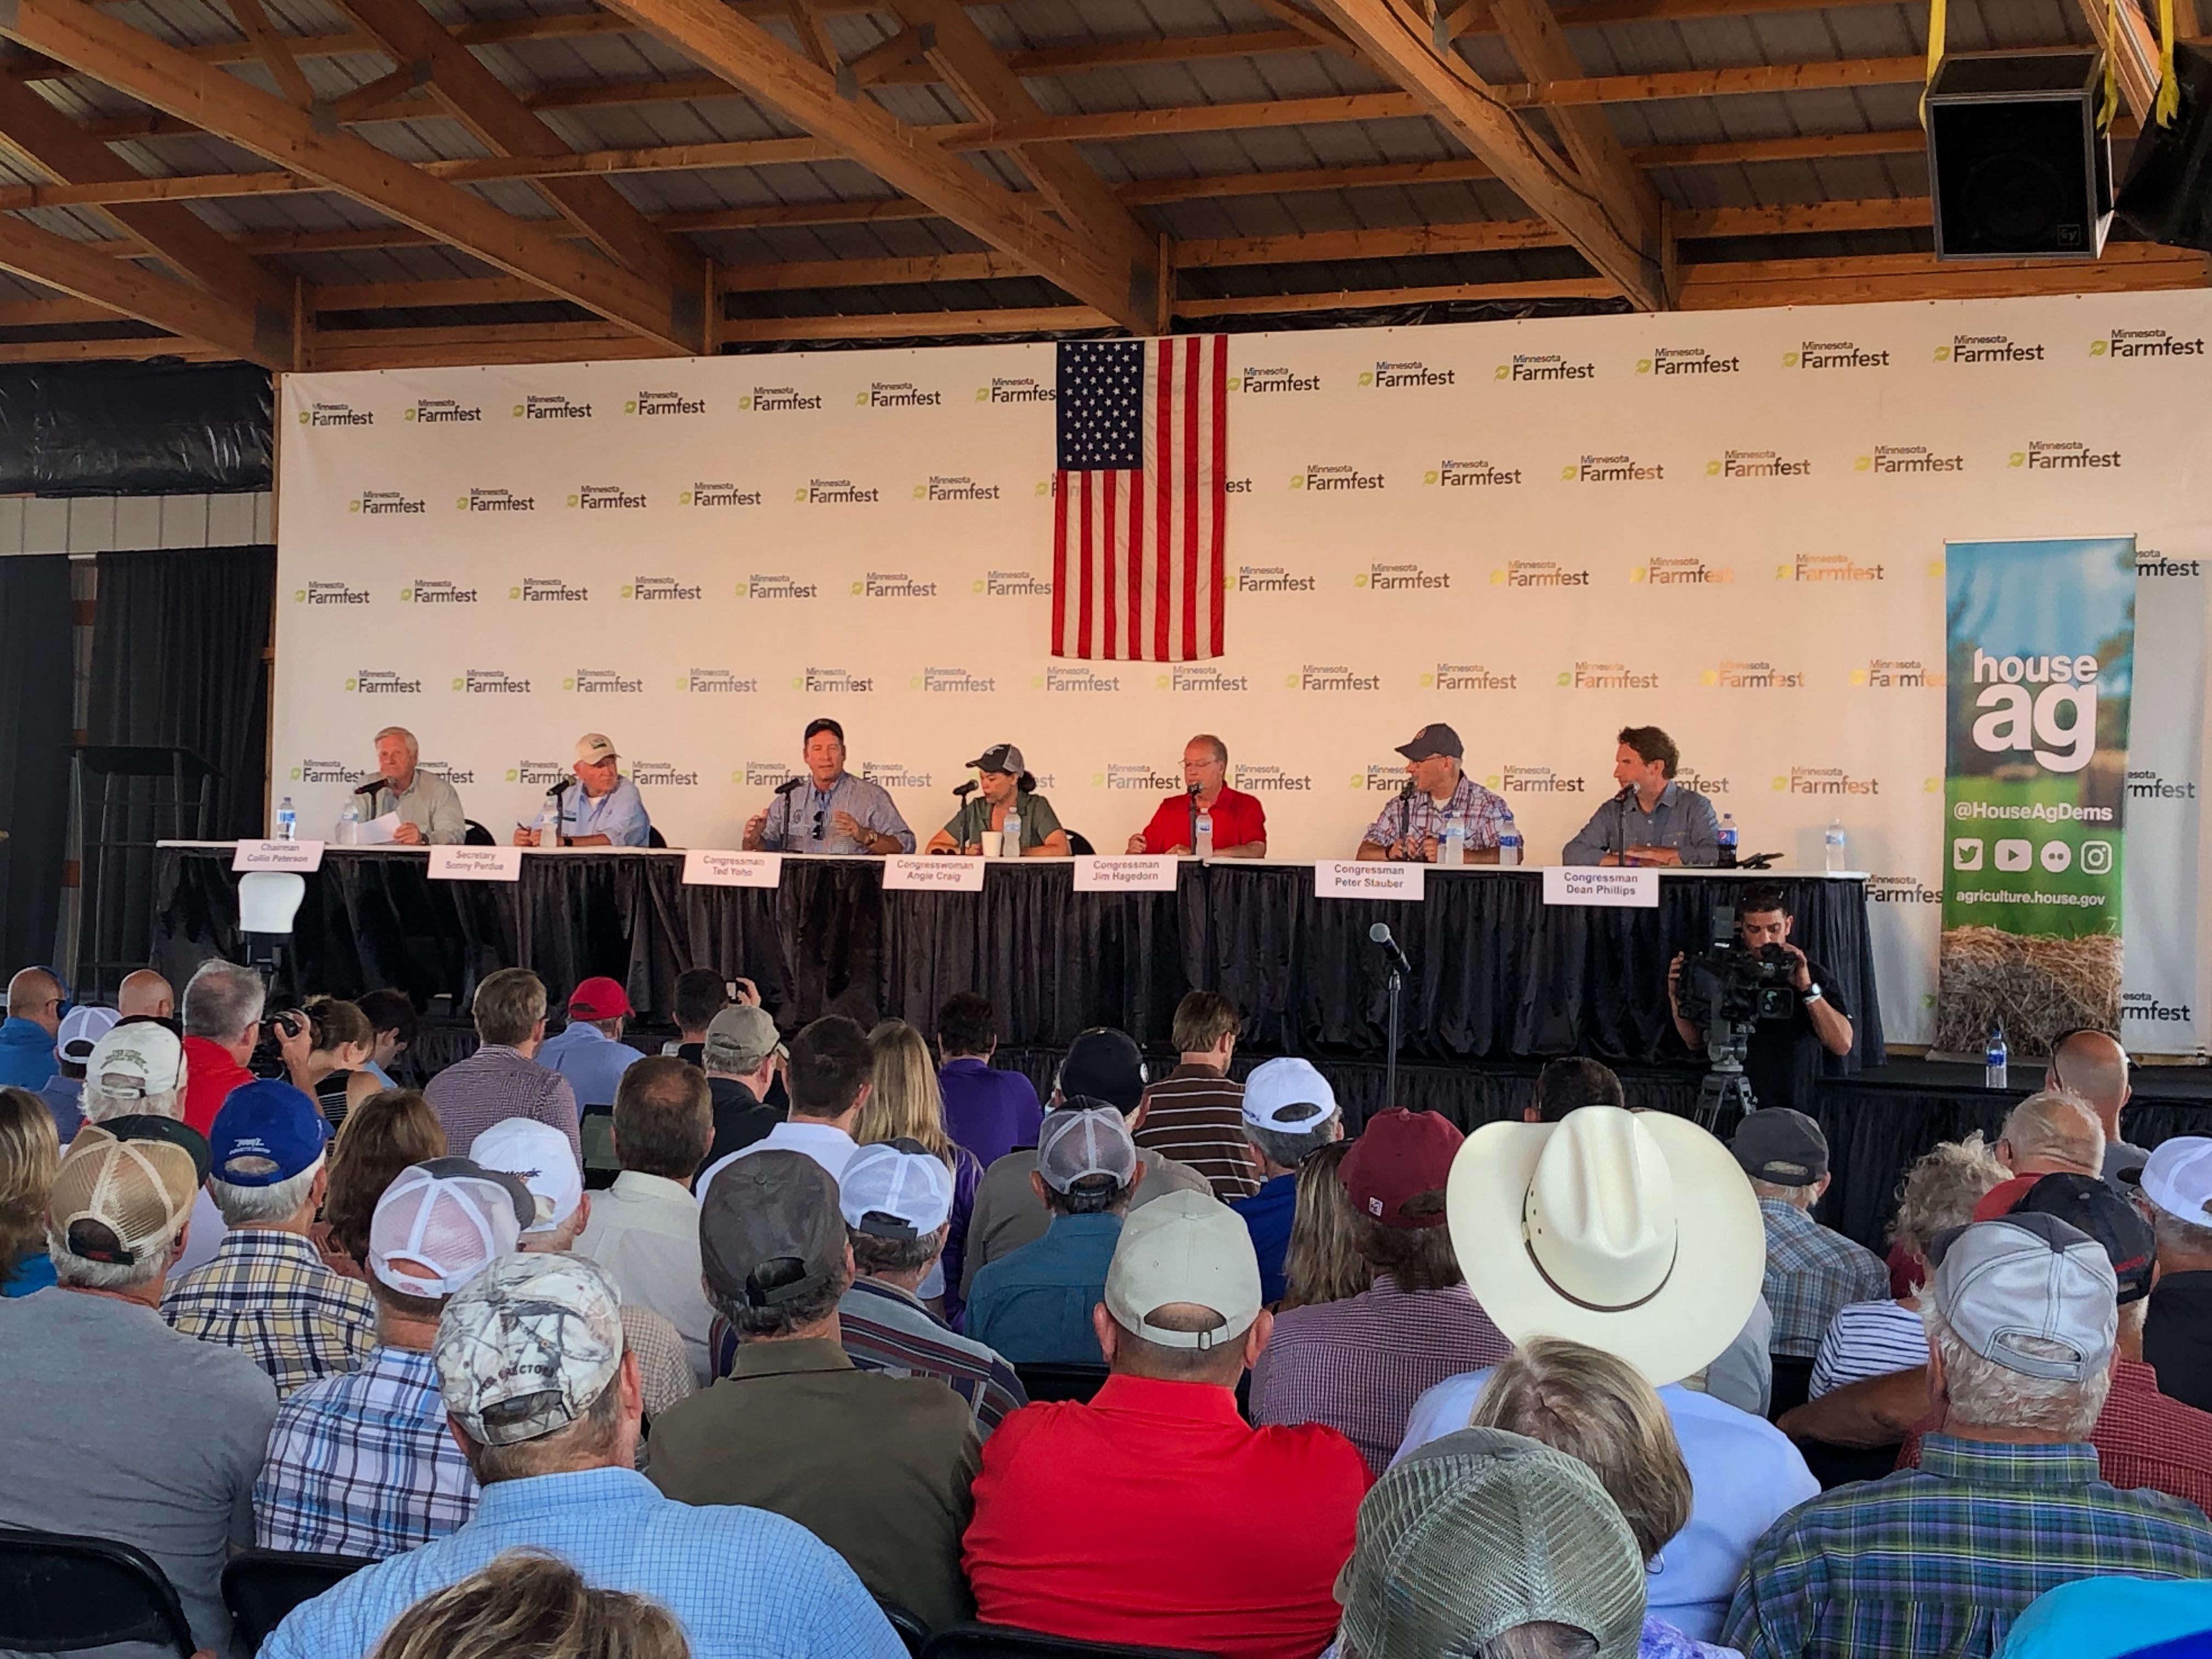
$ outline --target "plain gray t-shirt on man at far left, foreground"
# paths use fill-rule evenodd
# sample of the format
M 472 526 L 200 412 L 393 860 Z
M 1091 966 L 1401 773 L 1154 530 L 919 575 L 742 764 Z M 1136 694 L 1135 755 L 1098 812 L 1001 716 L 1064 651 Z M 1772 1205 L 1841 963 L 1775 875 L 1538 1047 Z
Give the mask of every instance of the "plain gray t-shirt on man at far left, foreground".
M 254 1542 L 276 1418 L 261 1367 L 179 1336 L 153 1307 L 42 1290 L 0 1301 L 0 1526 L 135 1544 L 177 1586 L 195 1641 L 246 1659 L 221 1577 L 228 1546 Z

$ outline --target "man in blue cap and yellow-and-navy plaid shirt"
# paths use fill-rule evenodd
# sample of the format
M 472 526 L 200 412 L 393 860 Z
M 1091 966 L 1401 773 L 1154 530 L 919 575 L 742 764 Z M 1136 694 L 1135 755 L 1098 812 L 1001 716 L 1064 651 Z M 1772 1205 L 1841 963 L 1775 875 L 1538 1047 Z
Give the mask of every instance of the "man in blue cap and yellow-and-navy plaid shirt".
M 223 1343 L 270 1374 L 276 1398 L 376 1347 L 376 1298 L 323 1265 L 307 1239 L 323 1203 L 330 1124 L 312 1097 L 279 1082 L 230 1091 L 208 1141 L 208 1192 L 223 1243 L 161 1298 L 170 1329 Z

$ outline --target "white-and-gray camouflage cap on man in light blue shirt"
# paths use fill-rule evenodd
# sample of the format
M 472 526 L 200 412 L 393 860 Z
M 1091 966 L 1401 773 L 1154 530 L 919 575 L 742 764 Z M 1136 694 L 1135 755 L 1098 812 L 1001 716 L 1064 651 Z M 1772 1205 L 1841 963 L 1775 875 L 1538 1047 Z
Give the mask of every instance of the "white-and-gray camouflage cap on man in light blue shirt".
M 622 1369 L 615 1281 L 584 1256 L 500 1256 L 445 1305 L 431 1360 L 478 1444 L 566 1429 Z

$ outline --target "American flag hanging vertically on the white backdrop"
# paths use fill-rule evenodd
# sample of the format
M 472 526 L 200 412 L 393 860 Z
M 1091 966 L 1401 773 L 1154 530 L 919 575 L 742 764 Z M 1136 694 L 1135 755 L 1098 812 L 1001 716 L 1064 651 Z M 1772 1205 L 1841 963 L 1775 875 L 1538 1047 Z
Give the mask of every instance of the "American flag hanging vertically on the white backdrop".
M 1221 655 L 1225 334 L 1060 347 L 1053 655 Z

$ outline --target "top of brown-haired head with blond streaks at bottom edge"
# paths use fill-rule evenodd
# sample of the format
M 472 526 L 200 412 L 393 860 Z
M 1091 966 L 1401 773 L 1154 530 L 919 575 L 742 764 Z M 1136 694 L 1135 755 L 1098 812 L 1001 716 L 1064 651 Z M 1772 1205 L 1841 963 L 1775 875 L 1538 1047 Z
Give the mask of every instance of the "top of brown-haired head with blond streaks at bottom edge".
M 690 1644 L 653 1597 L 593 1590 L 566 1562 L 509 1551 L 407 1608 L 376 1659 L 690 1659 Z

